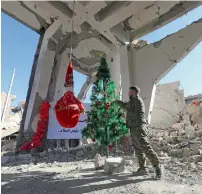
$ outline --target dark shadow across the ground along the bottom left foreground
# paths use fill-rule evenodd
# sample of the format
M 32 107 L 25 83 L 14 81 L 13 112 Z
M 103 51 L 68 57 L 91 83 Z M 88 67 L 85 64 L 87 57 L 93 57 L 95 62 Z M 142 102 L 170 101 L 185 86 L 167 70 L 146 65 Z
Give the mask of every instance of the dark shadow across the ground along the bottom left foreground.
M 59 177 L 55 179 L 54 176 Z M 80 194 L 136 184 L 152 180 L 131 178 L 129 174 L 106 175 L 103 172 L 92 172 L 79 178 L 61 177 L 63 174 L 29 172 L 2 174 L 3 194 Z

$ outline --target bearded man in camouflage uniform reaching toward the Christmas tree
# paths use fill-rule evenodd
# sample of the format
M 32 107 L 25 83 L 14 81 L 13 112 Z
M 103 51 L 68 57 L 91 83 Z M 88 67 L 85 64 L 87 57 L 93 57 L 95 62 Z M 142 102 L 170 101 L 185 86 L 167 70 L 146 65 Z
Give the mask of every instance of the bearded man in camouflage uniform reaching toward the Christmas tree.
M 128 93 L 129 101 L 122 102 L 116 100 L 115 103 L 127 111 L 126 125 L 130 129 L 132 143 L 135 148 L 135 155 L 139 162 L 139 169 L 137 172 L 134 172 L 134 175 L 141 176 L 149 174 L 148 169 L 146 168 L 146 155 L 155 169 L 156 178 L 160 179 L 162 172 L 159 159 L 148 142 L 145 107 L 139 93 L 140 89 L 138 87 L 131 86 Z

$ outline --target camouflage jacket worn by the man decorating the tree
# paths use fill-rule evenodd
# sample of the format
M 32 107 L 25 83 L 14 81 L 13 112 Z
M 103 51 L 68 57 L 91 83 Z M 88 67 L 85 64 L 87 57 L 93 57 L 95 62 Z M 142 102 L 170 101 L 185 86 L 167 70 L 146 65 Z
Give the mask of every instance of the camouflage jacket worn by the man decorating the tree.
M 118 100 L 117 104 L 127 111 L 126 124 L 129 128 L 141 128 L 147 123 L 145 119 L 144 102 L 140 96 L 136 96 L 128 102 Z

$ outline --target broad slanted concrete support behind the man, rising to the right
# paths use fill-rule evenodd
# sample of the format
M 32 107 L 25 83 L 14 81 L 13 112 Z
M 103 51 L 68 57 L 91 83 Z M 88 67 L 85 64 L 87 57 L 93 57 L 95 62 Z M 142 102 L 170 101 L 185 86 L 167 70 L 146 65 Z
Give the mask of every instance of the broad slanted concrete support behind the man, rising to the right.
M 155 84 L 180 62 L 202 40 L 202 19 L 166 38 L 144 46 L 134 48 L 131 45 L 130 80 L 132 85 L 140 87 L 148 121 L 151 119 Z

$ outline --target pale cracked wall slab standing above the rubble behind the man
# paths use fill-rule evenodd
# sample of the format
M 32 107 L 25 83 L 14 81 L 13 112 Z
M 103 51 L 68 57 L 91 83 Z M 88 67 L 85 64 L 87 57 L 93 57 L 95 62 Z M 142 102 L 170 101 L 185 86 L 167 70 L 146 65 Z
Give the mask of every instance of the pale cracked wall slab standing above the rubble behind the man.
M 179 89 L 180 82 L 158 85 L 151 113 L 151 127 L 168 129 L 179 120 L 180 112 L 185 109 L 184 91 Z

